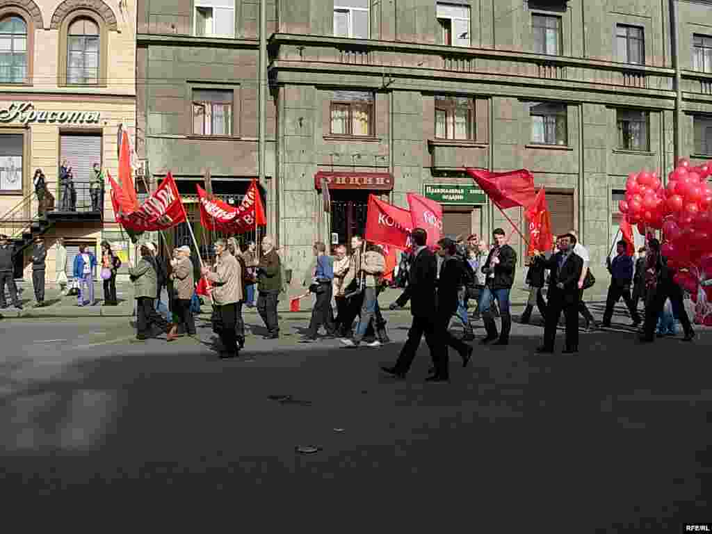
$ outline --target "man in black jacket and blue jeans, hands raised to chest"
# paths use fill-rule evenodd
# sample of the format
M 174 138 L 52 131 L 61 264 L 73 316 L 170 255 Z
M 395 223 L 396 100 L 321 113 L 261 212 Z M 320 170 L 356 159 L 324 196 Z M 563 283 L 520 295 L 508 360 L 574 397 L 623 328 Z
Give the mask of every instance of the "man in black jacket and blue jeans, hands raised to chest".
M 481 340 L 481 344 L 486 345 L 488 342 L 496 340 L 495 345 L 508 345 L 509 333 L 512 328 L 512 316 L 509 313 L 509 293 L 514 284 L 517 253 L 505 243 L 506 236 L 503 229 L 495 229 L 492 236 L 495 246 L 490 251 L 482 267 L 482 272 L 487 275 L 487 283 L 480 302 L 487 337 Z M 497 325 L 492 314 L 492 300 L 496 300 L 499 304 L 499 313 L 502 318 L 502 331 L 499 337 L 497 335 Z

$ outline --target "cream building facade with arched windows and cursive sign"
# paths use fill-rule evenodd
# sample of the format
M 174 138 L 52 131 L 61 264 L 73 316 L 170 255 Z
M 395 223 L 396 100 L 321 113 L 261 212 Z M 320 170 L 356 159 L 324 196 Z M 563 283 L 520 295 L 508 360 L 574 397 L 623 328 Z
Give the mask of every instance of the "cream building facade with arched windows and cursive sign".
M 58 237 L 70 278 L 80 244 L 98 252 L 107 239 L 128 259 L 109 195 L 92 206 L 88 182 L 93 163 L 117 176 L 119 125 L 135 134 L 135 16 L 134 0 L 0 0 L 0 232 L 21 242 L 34 221 L 46 239 L 48 280 L 56 279 Z M 68 209 L 58 184 L 64 160 L 75 185 Z M 56 200 L 41 226 L 36 169 Z M 30 278 L 30 256 L 26 248 L 16 276 Z

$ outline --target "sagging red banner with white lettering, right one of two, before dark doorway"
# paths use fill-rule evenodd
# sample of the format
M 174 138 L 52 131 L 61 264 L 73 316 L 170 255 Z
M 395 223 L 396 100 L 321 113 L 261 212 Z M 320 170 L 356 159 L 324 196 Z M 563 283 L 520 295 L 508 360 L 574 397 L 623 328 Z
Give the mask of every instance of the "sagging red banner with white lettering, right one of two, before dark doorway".
M 226 234 L 244 234 L 256 229 L 256 226 L 267 224 L 256 180 L 250 184 L 239 206 L 231 206 L 211 197 L 198 184 L 195 187 L 200 201 L 200 222 L 206 229 Z

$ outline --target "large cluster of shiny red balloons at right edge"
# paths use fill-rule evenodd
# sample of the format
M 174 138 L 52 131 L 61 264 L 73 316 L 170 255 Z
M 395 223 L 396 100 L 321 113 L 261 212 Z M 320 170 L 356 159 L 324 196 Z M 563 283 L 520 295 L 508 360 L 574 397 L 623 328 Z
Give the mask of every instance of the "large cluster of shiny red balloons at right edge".
M 641 234 L 661 229 L 661 248 L 668 264 L 678 269 L 676 283 L 697 301 L 701 281 L 712 278 L 712 164 L 692 167 L 681 159 L 663 187 L 655 173 L 631 174 L 626 184 L 626 200 L 619 208 Z M 705 286 L 712 301 L 712 286 Z

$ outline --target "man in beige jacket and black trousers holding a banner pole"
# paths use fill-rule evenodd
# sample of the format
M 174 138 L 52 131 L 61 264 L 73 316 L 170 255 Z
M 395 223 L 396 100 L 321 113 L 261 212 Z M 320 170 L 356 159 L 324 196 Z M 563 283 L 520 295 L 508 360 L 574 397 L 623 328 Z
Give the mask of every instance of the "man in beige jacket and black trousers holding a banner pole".
M 217 256 L 215 271 L 204 267 L 202 273 L 213 283 L 212 297 L 221 318 L 222 328 L 219 335 L 225 350 L 220 357 L 230 358 L 238 355 L 242 348 L 242 343 L 240 347 L 237 345 L 235 333 L 237 320 L 241 318 L 237 307 L 243 298 L 242 270 L 235 256 L 227 250 L 224 239 L 215 242 L 215 252 Z

